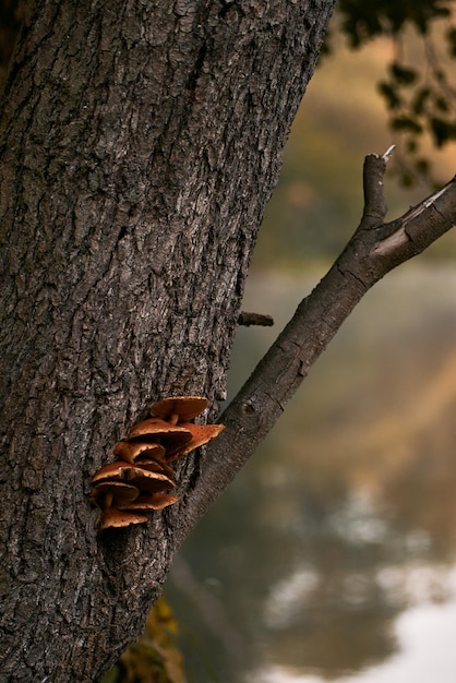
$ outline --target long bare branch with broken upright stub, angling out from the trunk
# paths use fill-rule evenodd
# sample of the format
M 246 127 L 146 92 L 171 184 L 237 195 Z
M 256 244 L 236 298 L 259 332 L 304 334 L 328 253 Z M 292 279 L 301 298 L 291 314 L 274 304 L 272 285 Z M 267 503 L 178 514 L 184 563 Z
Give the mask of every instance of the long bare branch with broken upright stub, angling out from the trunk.
M 364 293 L 400 263 L 421 253 L 456 224 L 456 176 L 400 218 L 383 223 L 383 177 L 391 156 L 364 161 L 364 209 L 345 250 L 260 361 L 219 418 L 225 431 L 207 448 L 188 499 L 196 523 L 272 430 L 310 368 Z

